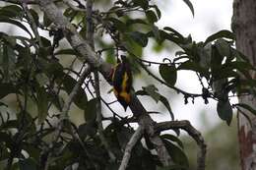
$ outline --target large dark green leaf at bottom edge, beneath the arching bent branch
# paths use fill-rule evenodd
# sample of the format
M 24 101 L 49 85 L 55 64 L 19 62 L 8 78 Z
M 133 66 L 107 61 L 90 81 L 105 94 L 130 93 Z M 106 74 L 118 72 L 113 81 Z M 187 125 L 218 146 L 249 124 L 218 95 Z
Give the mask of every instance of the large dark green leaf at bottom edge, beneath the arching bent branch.
M 183 166 L 185 170 L 189 167 L 188 158 L 184 151 L 180 149 L 178 146 L 173 144 L 172 142 L 168 142 L 167 140 L 163 140 L 164 145 L 167 148 L 167 151 L 172 158 L 173 162 L 177 165 Z

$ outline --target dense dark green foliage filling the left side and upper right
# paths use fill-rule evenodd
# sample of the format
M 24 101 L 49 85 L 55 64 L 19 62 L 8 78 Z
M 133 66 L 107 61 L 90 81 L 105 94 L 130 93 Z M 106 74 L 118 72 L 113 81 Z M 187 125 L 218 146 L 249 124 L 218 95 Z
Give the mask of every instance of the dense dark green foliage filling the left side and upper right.
M 45 166 L 49 170 L 71 166 L 78 169 L 117 169 L 125 146 L 134 133 L 130 126 L 134 120 L 112 110 L 110 118 L 102 119 L 110 120 L 103 129 L 103 135 L 109 149 L 117 157 L 117 160 L 111 160 L 108 148 L 105 148 L 97 133 L 96 85 L 94 78 L 89 75 L 73 99 L 75 105 L 85 111 L 86 121 L 79 127 L 73 123 L 67 125 L 60 137 L 53 141 L 56 135 L 54 121 L 63 111 L 63 96 L 70 94 L 77 85 L 84 65 L 77 61 L 80 56 L 77 51 L 59 46 L 63 32 L 55 28 L 45 14 L 40 15 L 31 5 L 12 2 L 1 7 L 0 23 L 13 25 L 24 31 L 24 35 L 0 32 L 0 159 L 6 169 L 33 170 Z M 194 14 L 190 1 L 184 2 Z M 62 4 L 66 18 L 85 37 L 88 24 L 85 5 L 78 0 L 72 1 L 76 8 L 69 3 L 64 5 L 64 1 L 56 3 Z M 234 95 L 254 94 L 253 87 L 256 85 L 250 76 L 255 68 L 233 47 L 235 39 L 232 32 L 221 30 L 204 42 L 195 42 L 190 35 L 185 37 L 173 28 L 159 28 L 156 23 L 160 16 L 158 6 L 148 0 L 116 0 L 107 11 L 94 11 L 96 53 L 109 63 L 113 63 L 118 54 L 124 53 L 130 60 L 134 75 L 140 70 L 146 71 L 161 84 L 184 95 L 185 103 L 189 98 L 194 101 L 198 97 L 202 97 L 206 104 L 209 99 L 217 100 L 218 115 L 228 125 L 236 107 L 255 114 L 255 110 L 246 104 L 229 102 Z M 37 28 L 47 31 L 50 37 L 38 33 Z M 109 41 L 101 38 L 106 35 L 110 36 Z M 159 45 L 175 43 L 180 50 L 173 58 L 166 58 L 162 62 L 158 62 L 158 59 L 146 61 L 143 59 L 143 49 L 147 47 L 149 39 L 156 40 Z M 80 62 L 83 65 L 80 71 L 73 64 L 68 67 L 63 65 L 63 55 L 72 55 L 74 62 Z M 154 75 L 149 70 L 151 65 L 159 66 L 160 75 Z M 202 93 L 190 93 L 175 86 L 177 72 L 182 70 L 198 75 Z M 162 102 L 174 120 L 168 99 L 160 94 L 155 85 L 143 86 L 135 93 Z M 5 100 L 10 96 L 17 102 L 16 108 Z M 32 105 L 37 110 L 30 109 Z M 111 108 L 110 104 L 107 106 Z M 161 139 L 175 163 L 167 169 L 187 169 L 188 159 L 178 137 L 164 135 Z M 159 157 L 151 149 L 151 143 L 145 140 L 146 143 L 136 144 L 127 169 L 163 169 Z

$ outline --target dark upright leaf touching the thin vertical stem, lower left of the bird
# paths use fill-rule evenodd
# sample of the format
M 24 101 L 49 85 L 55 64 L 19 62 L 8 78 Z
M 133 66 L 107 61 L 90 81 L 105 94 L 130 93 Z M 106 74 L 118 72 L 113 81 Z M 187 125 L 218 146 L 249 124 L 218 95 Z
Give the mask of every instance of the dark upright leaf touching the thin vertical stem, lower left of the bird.
M 97 99 L 93 98 L 86 103 L 85 109 L 84 109 L 86 122 L 96 121 L 96 102 L 97 102 Z

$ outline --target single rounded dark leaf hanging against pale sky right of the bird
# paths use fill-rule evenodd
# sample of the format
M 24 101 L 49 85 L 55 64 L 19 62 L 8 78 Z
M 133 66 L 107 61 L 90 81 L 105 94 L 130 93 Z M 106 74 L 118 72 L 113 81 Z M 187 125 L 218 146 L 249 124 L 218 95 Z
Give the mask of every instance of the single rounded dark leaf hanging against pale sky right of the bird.
M 177 70 L 174 65 L 160 64 L 161 78 L 170 86 L 174 86 L 177 81 Z

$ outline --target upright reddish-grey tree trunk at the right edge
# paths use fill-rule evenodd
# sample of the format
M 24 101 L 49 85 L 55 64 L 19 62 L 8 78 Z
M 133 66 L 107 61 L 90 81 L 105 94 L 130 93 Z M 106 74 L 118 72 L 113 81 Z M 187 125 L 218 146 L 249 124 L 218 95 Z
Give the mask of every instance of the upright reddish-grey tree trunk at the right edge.
M 234 0 L 232 29 L 236 36 L 236 48 L 248 57 L 256 66 L 256 3 L 255 0 Z M 256 75 L 252 73 L 252 78 Z M 253 95 L 239 97 L 240 103 L 246 103 L 256 109 L 256 97 Z M 240 143 L 240 160 L 242 170 L 256 170 L 256 117 L 249 115 L 248 120 L 238 114 L 238 139 Z

